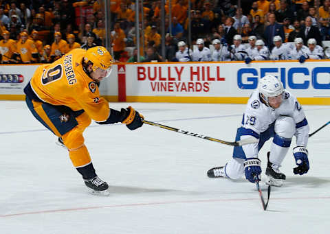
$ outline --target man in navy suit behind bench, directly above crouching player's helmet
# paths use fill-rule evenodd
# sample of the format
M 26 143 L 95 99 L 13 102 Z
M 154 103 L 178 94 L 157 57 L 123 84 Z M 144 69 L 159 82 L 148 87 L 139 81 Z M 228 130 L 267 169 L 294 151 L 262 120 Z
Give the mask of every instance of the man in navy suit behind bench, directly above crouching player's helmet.
M 269 14 L 268 21 L 270 21 L 270 25 L 268 25 L 265 29 L 264 38 L 265 44 L 268 49 L 272 50 L 274 47 L 273 38 L 274 36 L 281 36 L 282 40 L 284 40 L 284 30 L 283 25 L 276 23 L 275 14 Z

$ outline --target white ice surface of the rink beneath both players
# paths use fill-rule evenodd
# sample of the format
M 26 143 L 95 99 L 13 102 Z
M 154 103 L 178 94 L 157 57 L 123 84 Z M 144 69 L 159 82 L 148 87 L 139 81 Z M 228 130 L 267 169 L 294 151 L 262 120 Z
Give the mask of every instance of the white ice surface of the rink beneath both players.
M 232 141 L 245 105 L 111 103 L 147 120 Z M 311 132 L 329 121 L 329 106 L 304 106 Z M 309 139 L 311 169 L 295 176 L 292 150 L 272 187 L 267 211 L 252 183 L 210 179 L 232 147 L 144 125 L 91 124 L 85 143 L 110 196 L 87 192 L 67 152 L 25 102 L 0 102 L 0 233 L 329 233 L 330 126 Z M 292 147 L 296 139 L 292 141 Z M 259 154 L 266 165 L 266 143 Z M 261 187 L 265 189 L 264 183 Z M 264 194 L 266 191 L 264 190 Z

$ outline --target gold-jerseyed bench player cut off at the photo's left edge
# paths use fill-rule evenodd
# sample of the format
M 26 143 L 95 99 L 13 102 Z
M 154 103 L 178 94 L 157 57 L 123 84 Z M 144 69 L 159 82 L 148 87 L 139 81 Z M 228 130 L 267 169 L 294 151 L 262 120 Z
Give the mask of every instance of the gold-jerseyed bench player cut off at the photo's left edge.
M 10 39 L 10 32 L 4 30 L 2 33 L 3 40 L 0 40 L 0 60 L 1 63 L 17 62 L 17 45 L 16 41 Z

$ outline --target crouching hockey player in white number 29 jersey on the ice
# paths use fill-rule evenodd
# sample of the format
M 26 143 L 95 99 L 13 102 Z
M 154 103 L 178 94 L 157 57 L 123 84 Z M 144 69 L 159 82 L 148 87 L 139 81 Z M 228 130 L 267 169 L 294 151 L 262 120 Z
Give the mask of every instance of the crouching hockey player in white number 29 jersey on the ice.
M 302 106 L 296 97 L 285 91 L 283 84 L 273 75 L 259 80 L 258 89 L 252 93 L 243 113 L 241 127 L 237 129 L 236 141 L 253 138 L 256 143 L 235 146 L 233 158 L 221 167 L 208 170 L 208 177 L 238 179 L 245 173 L 251 183 L 261 180 L 259 150 L 265 141 L 273 137 L 267 153 L 266 184 L 281 186 L 286 176 L 279 171 L 281 163 L 296 136 L 293 149 L 297 167 L 294 174 L 303 175 L 309 170 L 307 141 L 309 126 Z

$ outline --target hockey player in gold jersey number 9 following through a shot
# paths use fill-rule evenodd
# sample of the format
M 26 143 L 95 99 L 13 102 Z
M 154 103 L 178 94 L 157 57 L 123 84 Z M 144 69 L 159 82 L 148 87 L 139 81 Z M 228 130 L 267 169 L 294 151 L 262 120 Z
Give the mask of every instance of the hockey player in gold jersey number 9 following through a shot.
M 97 84 L 109 75 L 112 64 L 104 47 L 73 49 L 36 69 L 24 89 L 34 117 L 65 145 L 74 167 L 94 193 L 107 192 L 108 185 L 96 175 L 84 143 L 83 132 L 91 119 L 98 124 L 122 122 L 130 130 L 143 124 L 143 116 L 131 106 L 114 110 L 100 96 Z

